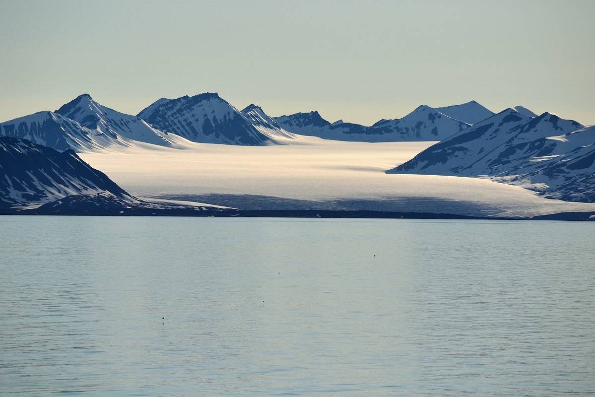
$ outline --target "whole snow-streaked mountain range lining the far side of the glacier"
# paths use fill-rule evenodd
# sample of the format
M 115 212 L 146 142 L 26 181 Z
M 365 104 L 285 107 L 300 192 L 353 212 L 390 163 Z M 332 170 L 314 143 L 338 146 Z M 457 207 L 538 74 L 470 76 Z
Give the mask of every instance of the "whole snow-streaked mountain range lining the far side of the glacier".
M 270 117 L 261 107 L 237 110 L 217 93 L 161 98 L 130 115 L 77 96 L 57 111 L 43 111 L 0 123 L 0 136 L 29 139 L 63 151 L 102 151 L 136 143 L 176 147 L 181 136 L 192 142 L 271 145 L 291 142 L 295 134 L 363 142 L 441 140 L 492 115 L 475 101 L 431 108 L 422 105 L 402 118 L 372 126 L 330 123 L 317 111 Z

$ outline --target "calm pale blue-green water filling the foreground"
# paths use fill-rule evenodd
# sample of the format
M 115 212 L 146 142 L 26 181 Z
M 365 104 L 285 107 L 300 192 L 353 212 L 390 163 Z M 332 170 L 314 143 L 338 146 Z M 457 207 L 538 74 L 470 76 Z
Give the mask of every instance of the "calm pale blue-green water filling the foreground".
M 595 393 L 595 224 L 0 217 L 0 239 L 0 394 Z

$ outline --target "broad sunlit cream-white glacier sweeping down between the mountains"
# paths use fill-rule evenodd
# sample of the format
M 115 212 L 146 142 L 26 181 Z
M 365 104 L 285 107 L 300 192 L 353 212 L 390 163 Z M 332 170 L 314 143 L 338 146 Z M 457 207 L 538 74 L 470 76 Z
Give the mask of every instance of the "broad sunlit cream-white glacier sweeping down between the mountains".
M 261 203 L 268 200 L 271 207 L 306 201 L 306 206 L 329 209 L 474 216 L 595 211 L 595 204 L 546 199 L 486 179 L 385 173 L 435 142 L 367 143 L 297 136 L 291 145 L 237 146 L 176 139 L 177 146 L 186 149 L 139 143 L 80 157 L 137 196 L 236 208 L 250 209 L 258 198 Z

